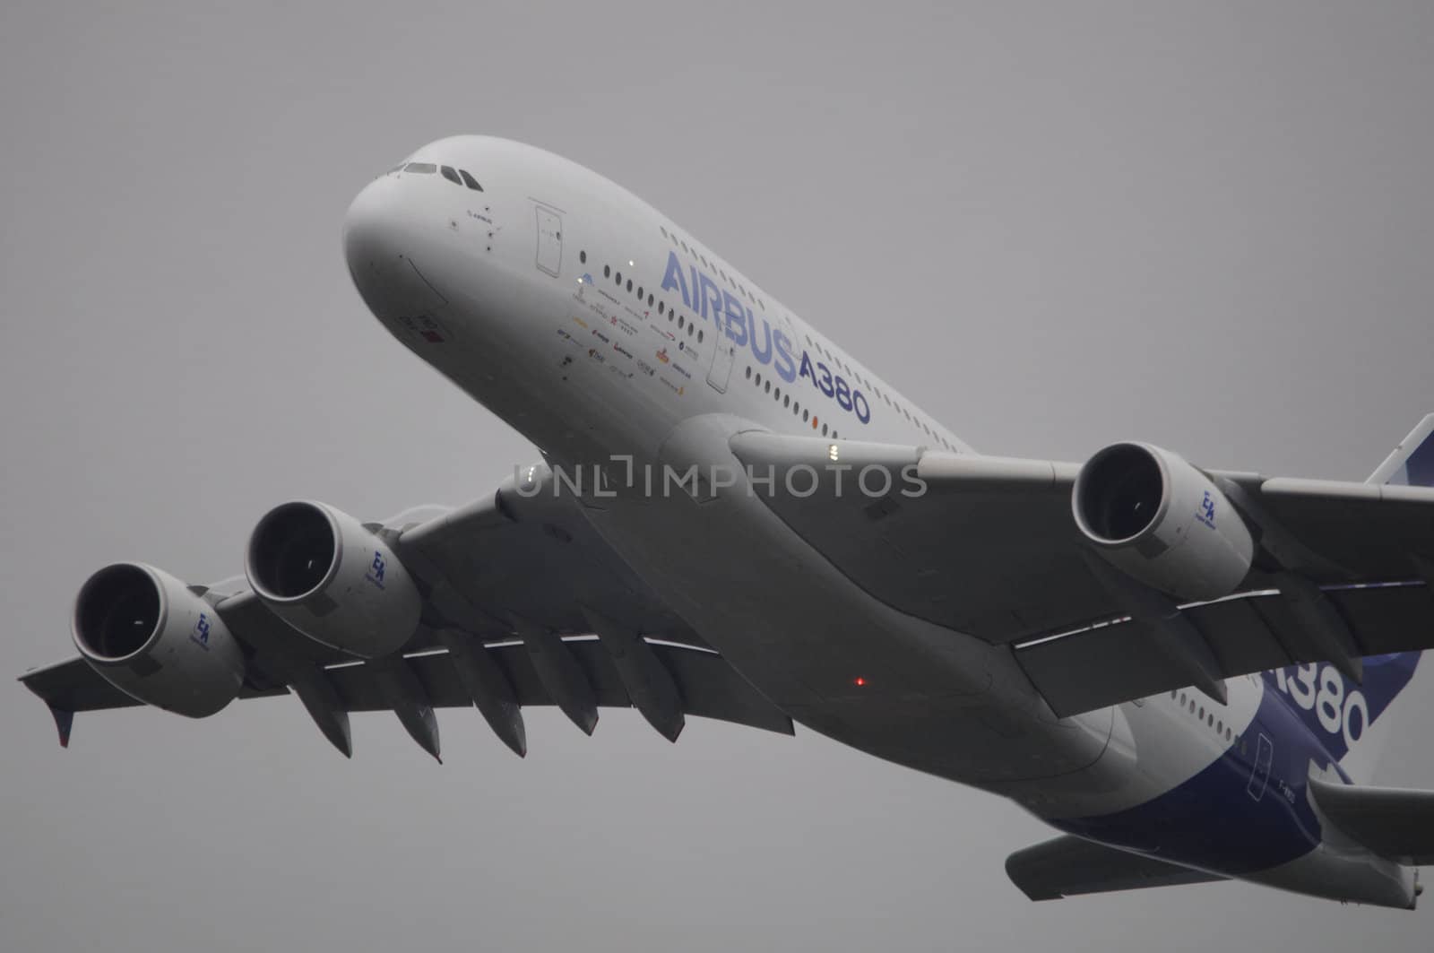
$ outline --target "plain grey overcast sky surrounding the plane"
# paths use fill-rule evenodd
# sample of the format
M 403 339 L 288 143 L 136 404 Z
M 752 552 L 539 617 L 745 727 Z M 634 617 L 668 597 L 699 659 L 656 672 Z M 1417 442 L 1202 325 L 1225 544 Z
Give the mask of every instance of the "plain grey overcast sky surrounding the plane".
M 1139 438 L 1362 479 L 1434 410 L 1434 6 L 0 6 L 0 673 L 87 573 L 241 568 L 294 497 L 459 504 L 533 458 L 391 340 L 350 198 L 457 132 L 680 222 L 985 452 Z M 1032 596 L 1037 596 L 1032 593 Z M 1434 725 L 1434 703 L 1425 708 Z M 810 732 L 440 712 L 337 755 L 0 690 L 7 950 L 1423 949 L 1219 884 L 1031 904 L 1007 802 Z M 1434 787 L 1425 739 L 1385 779 Z

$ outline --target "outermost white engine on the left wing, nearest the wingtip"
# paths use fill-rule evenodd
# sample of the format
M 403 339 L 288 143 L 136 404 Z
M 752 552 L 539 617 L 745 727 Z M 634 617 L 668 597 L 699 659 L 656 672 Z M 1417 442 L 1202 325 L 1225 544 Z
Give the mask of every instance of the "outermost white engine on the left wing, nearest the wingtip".
M 70 634 L 120 692 L 189 718 L 214 715 L 244 683 L 244 652 L 219 613 L 152 565 L 116 563 L 90 576 Z

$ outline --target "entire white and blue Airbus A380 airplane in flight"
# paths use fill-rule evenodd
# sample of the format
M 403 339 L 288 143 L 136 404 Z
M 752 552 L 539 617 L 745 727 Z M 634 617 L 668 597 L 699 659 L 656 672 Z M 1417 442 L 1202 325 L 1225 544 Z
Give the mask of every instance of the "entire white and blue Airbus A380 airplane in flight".
M 1364 484 L 1149 442 L 977 454 L 651 205 L 488 136 L 364 187 L 343 251 L 404 347 L 539 448 L 483 498 L 361 521 L 284 502 L 244 576 L 100 568 L 76 712 L 294 695 L 353 754 L 436 708 L 792 733 L 1010 798 L 1058 831 L 1032 900 L 1243 880 L 1414 909 L 1434 792 L 1369 784 L 1428 690 L 1434 415 Z M 1405 729 L 1407 731 L 1407 729 Z

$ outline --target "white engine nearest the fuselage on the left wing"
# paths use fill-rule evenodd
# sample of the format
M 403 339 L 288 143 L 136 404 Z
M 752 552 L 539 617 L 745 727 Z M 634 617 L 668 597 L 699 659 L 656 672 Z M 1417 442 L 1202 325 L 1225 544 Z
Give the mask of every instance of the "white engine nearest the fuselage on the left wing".
M 403 647 L 423 597 L 389 544 L 320 502 L 270 510 L 250 535 L 244 574 L 284 621 L 363 659 Z

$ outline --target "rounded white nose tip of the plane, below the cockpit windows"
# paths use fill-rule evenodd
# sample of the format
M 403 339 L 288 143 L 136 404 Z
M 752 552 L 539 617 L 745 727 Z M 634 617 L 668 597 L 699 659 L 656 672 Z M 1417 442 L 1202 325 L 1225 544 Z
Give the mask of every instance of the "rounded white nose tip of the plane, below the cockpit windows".
M 380 320 L 414 317 L 445 301 L 419 271 L 424 235 L 404 182 L 374 179 L 344 214 L 344 258 L 358 294 Z

